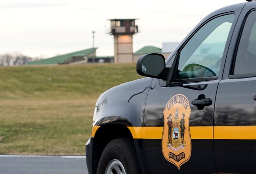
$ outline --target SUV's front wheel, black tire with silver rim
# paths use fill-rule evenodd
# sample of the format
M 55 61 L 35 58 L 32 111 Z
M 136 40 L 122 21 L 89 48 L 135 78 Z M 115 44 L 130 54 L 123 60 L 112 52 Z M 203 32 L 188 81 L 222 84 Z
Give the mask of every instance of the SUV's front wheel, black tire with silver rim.
M 111 172 L 106 172 L 106 170 Z M 125 171 L 123 171 L 125 170 Z M 102 152 L 97 174 L 140 174 L 135 148 L 127 138 L 110 141 Z

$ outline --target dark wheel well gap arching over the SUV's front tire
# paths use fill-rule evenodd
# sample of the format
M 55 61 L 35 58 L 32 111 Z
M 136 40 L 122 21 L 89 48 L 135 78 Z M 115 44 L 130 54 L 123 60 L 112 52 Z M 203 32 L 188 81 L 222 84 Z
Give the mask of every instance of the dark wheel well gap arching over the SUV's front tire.
M 121 124 L 107 124 L 104 126 L 101 126 L 93 140 L 93 149 L 92 149 L 92 168 L 93 173 L 96 173 L 98 163 L 100 161 L 100 156 L 106 147 L 106 145 L 116 138 L 128 138 L 132 141 L 134 144 L 132 134 L 130 130 Z

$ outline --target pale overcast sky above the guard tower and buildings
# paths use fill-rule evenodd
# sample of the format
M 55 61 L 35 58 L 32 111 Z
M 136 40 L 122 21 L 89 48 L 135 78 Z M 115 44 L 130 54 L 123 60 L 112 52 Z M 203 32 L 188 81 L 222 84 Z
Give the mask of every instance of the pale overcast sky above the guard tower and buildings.
M 139 18 L 134 52 L 180 42 L 210 12 L 246 0 L 1 0 L 0 54 L 21 52 L 49 58 L 99 47 L 97 56 L 113 56 L 108 19 Z

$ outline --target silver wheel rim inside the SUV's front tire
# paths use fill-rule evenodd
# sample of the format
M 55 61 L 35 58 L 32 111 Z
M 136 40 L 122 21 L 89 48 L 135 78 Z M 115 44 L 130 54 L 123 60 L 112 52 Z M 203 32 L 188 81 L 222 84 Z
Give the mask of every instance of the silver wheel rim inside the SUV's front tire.
M 108 164 L 105 174 L 126 174 L 123 164 L 119 160 L 112 160 Z

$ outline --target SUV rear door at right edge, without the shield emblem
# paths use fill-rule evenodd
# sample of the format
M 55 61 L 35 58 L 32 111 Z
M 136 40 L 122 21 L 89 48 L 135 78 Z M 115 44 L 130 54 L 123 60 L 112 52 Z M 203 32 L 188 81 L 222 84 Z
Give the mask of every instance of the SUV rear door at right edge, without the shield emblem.
M 244 7 L 216 95 L 217 172 L 256 173 L 256 3 Z

